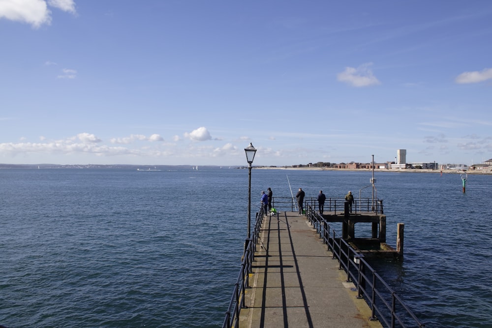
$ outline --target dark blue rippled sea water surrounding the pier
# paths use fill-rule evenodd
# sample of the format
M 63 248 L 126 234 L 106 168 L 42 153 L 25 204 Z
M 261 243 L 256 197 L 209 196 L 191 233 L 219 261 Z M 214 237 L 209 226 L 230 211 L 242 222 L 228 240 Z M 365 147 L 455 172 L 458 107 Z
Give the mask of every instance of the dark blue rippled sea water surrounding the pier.
M 370 197 L 371 172 L 253 169 L 261 190 Z M 492 327 L 492 176 L 376 172 L 387 242 L 374 268 L 427 327 Z M 364 189 L 363 189 L 364 188 Z M 362 189 L 362 190 L 361 190 Z M 248 170 L 0 170 L 0 324 L 218 327 L 247 234 Z M 368 195 L 369 193 L 369 195 Z

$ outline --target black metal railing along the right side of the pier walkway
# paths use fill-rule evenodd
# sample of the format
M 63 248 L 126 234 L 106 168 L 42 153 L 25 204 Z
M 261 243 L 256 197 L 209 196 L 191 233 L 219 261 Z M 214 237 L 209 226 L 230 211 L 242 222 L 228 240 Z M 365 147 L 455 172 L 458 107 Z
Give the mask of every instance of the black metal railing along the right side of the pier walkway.
M 419 327 L 425 325 L 412 310 L 383 280 L 383 278 L 357 253 L 344 239 L 337 237 L 335 230 L 317 213 L 307 206 L 307 219 L 316 229 L 323 243 L 328 245 L 333 258 L 338 260 L 339 269 L 347 273 L 347 282 L 353 282 L 357 288 L 357 298 L 364 298 L 371 309 L 370 320 L 379 322 L 388 328 Z

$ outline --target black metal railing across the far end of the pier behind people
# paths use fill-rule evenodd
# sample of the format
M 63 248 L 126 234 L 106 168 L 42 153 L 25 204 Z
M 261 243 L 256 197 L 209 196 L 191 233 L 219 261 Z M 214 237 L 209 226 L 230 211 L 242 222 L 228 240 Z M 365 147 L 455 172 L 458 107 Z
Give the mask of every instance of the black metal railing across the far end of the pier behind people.
M 305 209 L 307 205 L 318 208 L 318 201 L 316 197 L 305 197 L 304 198 Z M 326 212 L 334 212 L 342 213 L 344 211 L 345 199 L 344 198 L 334 198 L 329 197 L 325 200 L 324 211 Z M 273 197 L 272 198 L 272 207 L 277 210 L 283 211 L 295 211 L 297 209 L 297 201 L 292 197 Z M 352 209 L 354 213 L 378 213 L 383 214 L 383 200 L 376 199 L 372 200 L 371 198 L 360 198 L 354 200 L 354 204 L 352 205 Z

